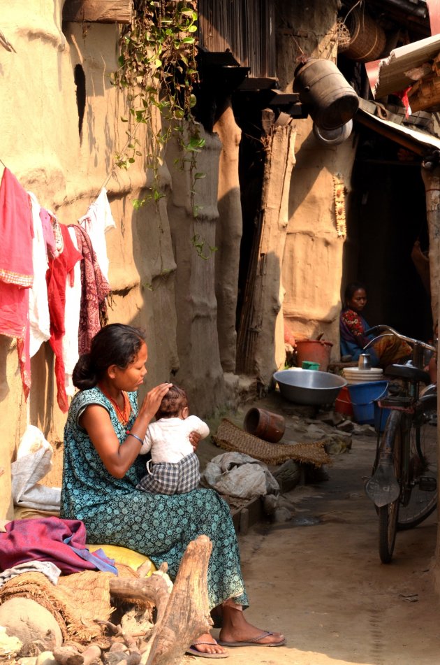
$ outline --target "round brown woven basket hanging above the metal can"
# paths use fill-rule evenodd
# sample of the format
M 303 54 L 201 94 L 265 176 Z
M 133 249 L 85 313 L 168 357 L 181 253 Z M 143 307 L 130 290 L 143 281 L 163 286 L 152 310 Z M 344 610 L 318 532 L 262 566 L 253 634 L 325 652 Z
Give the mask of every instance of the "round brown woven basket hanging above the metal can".
M 358 62 L 376 60 L 386 45 L 385 31 L 363 9 L 353 9 L 346 17 L 350 42 L 344 56 Z

